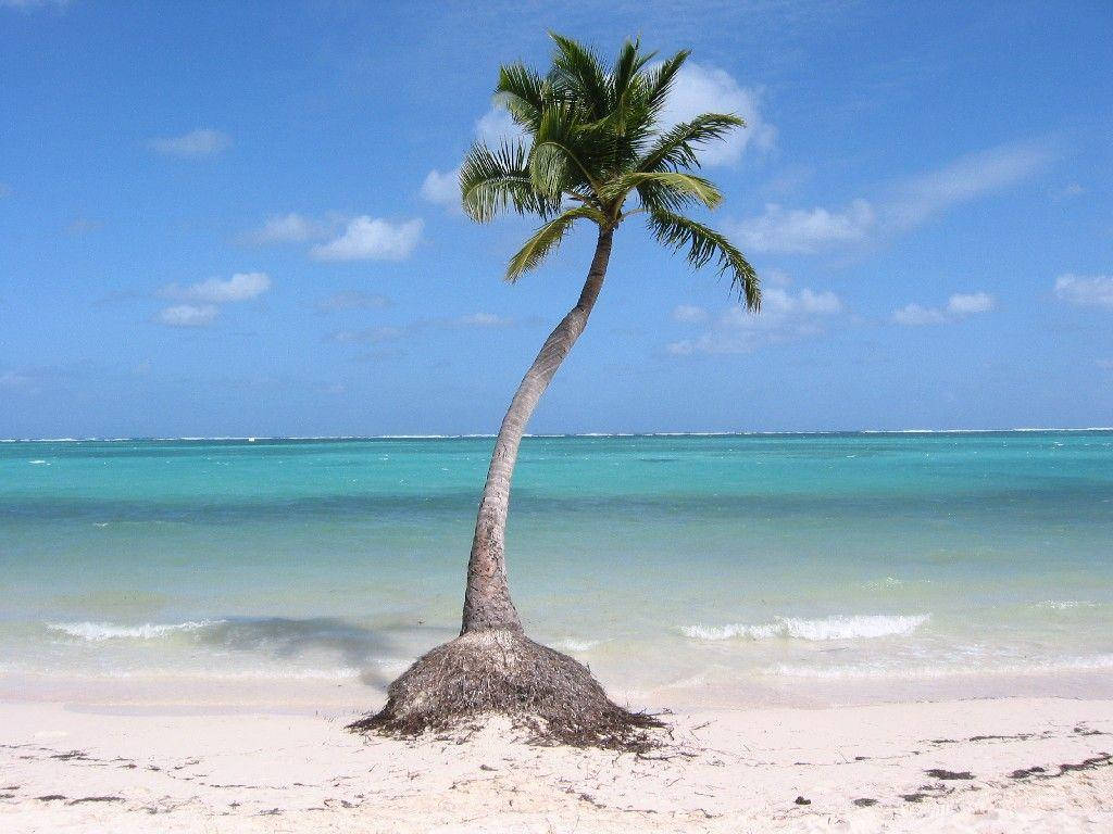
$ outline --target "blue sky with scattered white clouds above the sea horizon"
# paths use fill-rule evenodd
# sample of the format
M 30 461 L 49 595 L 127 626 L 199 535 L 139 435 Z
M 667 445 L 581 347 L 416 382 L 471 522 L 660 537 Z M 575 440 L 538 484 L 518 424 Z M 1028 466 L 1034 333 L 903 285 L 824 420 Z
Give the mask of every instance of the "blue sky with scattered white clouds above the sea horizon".
M 1107 0 L 0 0 L 0 437 L 495 431 L 594 237 L 509 285 L 455 170 L 549 30 L 692 50 L 765 304 L 631 218 L 532 431 L 1113 425 Z

